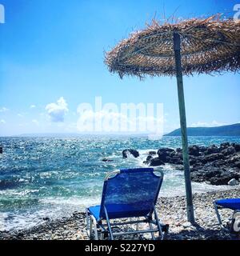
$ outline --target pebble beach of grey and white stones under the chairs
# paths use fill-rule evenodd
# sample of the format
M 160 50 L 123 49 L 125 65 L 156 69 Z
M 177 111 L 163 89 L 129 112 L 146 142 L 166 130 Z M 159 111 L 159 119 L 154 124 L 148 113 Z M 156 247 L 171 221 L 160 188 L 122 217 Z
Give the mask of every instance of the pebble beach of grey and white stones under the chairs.
M 194 194 L 194 210 L 196 224 L 186 222 L 186 199 L 183 196 L 159 198 L 157 203 L 158 217 L 170 225 L 169 240 L 205 240 L 205 239 L 240 239 L 235 234 L 222 230 L 218 225 L 213 201 L 219 198 L 239 198 L 240 186 L 226 191 Z M 231 217 L 230 210 L 222 210 L 226 221 Z M 3 240 L 87 240 L 86 218 L 82 212 L 74 212 L 70 218 L 48 220 L 46 223 L 29 230 L 0 232 Z M 139 239 L 142 237 L 123 237 L 120 239 Z M 145 235 L 144 239 L 150 239 Z

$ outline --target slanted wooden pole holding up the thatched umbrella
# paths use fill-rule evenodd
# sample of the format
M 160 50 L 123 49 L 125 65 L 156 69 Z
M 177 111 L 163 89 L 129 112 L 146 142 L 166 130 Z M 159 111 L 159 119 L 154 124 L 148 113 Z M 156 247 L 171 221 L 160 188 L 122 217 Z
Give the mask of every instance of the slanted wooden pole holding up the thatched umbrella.
M 180 125 L 182 134 L 182 158 L 184 165 L 184 176 L 185 176 L 185 186 L 186 186 L 186 210 L 187 210 L 187 220 L 189 222 L 194 222 L 194 206 L 192 199 L 192 186 L 190 179 L 190 164 L 189 164 L 189 154 L 188 154 L 188 143 L 186 134 L 186 111 L 184 102 L 184 92 L 183 92 L 183 82 L 182 82 L 182 63 L 181 63 L 181 52 L 180 52 L 180 35 L 178 32 L 174 32 L 174 56 L 176 65 L 176 77 L 178 83 L 178 106 L 180 114 Z

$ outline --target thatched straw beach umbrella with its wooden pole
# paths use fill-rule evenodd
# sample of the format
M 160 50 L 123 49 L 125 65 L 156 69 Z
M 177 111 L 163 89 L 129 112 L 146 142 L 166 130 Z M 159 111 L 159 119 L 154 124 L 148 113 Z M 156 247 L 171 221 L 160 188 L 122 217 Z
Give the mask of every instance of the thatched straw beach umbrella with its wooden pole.
M 106 53 L 110 72 L 144 78 L 176 76 L 182 132 L 182 157 L 186 184 L 187 219 L 194 222 L 186 113 L 182 74 L 192 75 L 238 71 L 240 67 L 240 22 L 213 16 L 193 18 L 176 24 L 154 21 L 145 30 L 130 34 Z

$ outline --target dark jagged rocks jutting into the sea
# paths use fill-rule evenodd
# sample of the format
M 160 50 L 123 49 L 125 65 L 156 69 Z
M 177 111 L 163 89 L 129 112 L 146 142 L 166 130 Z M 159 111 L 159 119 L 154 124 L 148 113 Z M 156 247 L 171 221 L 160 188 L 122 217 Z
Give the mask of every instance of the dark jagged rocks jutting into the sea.
M 132 154 L 138 158 L 137 150 L 123 150 L 122 157 Z M 190 172 L 193 182 L 206 182 L 211 185 L 238 185 L 240 182 L 240 144 L 224 142 L 220 146 L 189 146 Z M 183 170 L 182 149 L 160 148 L 150 151 L 146 166 L 171 164 Z

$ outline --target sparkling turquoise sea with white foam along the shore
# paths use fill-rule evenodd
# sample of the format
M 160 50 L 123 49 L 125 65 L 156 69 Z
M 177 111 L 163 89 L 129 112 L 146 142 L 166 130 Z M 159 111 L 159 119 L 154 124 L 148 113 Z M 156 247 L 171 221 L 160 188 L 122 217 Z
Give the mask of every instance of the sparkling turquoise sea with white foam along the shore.
M 240 142 L 240 137 L 190 137 L 189 144 L 209 146 Z M 62 218 L 100 202 L 106 173 L 141 167 L 149 150 L 181 147 L 180 137 L 90 136 L 79 138 L 0 138 L 0 231 L 29 228 L 43 218 Z M 139 158 L 122 158 L 122 150 L 135 149 Z M 109 158 L 113 162 L 102 162 Z M 158 167 L 162 168 L 162 167 Z M 181 170 L 163 167 L 161 195 L 184 194 Z M 193 183 L 194 192 L 222 190 L 226 186 Z

